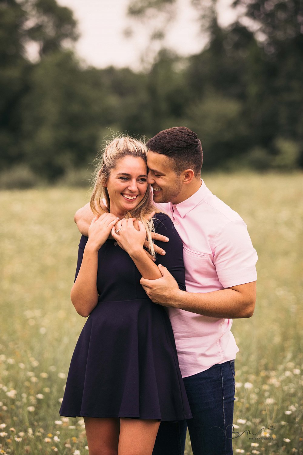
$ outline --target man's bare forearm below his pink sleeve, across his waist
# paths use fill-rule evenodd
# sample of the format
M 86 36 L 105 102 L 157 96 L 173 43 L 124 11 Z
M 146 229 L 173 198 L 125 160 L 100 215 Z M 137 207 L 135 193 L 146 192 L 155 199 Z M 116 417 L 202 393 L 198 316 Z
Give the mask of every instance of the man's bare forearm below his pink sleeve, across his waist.
M 168 306 L 180 308 L 213 318 L 250 318 L 253 315 L 255 298 L 247 298 L 234 289 L 222 289 L 207 293 L 192 293 L 176 290 Z

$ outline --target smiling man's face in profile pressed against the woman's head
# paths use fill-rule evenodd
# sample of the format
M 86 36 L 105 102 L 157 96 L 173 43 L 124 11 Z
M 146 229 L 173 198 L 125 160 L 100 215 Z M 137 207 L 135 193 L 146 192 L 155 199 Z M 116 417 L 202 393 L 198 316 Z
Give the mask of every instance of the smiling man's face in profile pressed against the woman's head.
M 181 176 L 177 176 L 168 157 L 149 151 L 147 154 L 149 172 L 147 182 L 153 187 L 154 202 L 173 202 L 178 204 L 178 196 L 182 190 Z

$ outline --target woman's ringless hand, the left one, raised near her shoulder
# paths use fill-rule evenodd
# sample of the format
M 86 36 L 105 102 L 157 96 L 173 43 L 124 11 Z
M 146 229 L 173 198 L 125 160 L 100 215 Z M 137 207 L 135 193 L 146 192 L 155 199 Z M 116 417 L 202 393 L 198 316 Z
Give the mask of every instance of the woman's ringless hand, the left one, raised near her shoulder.
M 89 226 L 89 239 L 87 244 L 99 250 L 107 240 L 114 224 L 119 220 L 112 213 L 102 213 L 96 215 Z

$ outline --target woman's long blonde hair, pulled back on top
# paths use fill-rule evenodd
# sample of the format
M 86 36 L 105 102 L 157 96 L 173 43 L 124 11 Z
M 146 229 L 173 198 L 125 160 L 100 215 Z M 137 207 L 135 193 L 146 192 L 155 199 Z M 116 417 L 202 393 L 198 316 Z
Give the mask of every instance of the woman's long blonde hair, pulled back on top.
M 90 197 L 90 208 L 94 215 L 104 212 L 101 201 L 104 198 L 107 211 L 110 212 L 110 200 L 107 188 L 104 186 L 109 180 L 111 171 L 117 166 L 117 162 L 124 157 L 141 158 L 147 162 L 147 149 L 143 142 L 130 136 L 119 136 L 111 140 L 105 147 L 101 158 L 97 159 L 96 170 L 94 171 L 94 188 Z M 153 219 L 149 219 L 151 212 L 160 211 L 154 206 L 153 194 L 150 185 L 147 187 L 143 199 L 129 212 L 125 213 L 124 218 L 137 218 L 144 224 L 148 237 L 149 253 L 155 257 L 153 240 L 151 234 L 154 233 Z

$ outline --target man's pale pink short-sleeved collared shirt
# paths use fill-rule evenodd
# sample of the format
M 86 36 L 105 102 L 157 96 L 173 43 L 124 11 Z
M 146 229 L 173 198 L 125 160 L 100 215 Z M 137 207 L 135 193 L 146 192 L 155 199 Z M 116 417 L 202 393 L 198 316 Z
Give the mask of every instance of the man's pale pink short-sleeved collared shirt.
M 179 204 L 158 207 L 168 213 L 183 242 L 187 292 L 205 293 L 257 279 L 257 252 L 243 219 L 206 187 Z M 228 318 L 212 318 L 167 308 L 183 377 L 235 359 L 239 351 Z

